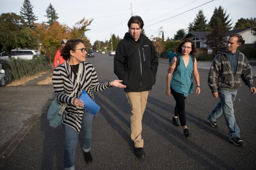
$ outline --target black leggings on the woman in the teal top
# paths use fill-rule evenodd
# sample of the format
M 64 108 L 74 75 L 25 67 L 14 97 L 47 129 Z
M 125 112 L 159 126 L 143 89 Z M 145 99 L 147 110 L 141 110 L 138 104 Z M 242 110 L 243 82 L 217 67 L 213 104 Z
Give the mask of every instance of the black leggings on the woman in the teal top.
M 186 126 L 186 115 L 185 115 L 185 99 L 186 97 L 182 93 L 178 93 L 171 88 L 171 94 L 176 101 L 174 115 L 179 115 L 181 126 Z

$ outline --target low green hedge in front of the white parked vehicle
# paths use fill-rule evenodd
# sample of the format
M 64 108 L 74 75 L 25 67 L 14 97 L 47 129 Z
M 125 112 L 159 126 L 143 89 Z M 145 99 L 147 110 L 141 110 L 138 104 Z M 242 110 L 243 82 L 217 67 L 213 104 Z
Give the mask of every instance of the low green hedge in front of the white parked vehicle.
M 2 69 L 5 70 L 5 82 L 9 83 L 49 69 L 49 58 L 45 55 L 34 55 L 30 60 L 11 58 L 2 61 Z

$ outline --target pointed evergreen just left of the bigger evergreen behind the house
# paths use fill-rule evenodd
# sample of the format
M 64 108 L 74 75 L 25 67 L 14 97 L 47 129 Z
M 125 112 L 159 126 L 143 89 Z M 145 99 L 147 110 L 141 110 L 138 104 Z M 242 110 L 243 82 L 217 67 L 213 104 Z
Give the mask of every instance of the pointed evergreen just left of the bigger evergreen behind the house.
M 203 15 L 203 10 L 199 10 L 194 22 L 189 23 L 188 31 L 208 31 L 208 25 L 205 16 Z

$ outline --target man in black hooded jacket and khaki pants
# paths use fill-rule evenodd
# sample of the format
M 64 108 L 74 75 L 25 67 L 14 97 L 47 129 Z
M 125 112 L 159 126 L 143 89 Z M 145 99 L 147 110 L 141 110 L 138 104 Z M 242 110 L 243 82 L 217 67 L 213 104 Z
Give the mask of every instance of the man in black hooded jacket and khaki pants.
M 145 157 L 143 150 L 142 116 L 146 108 L 149 90 L 156 82 L 158 58 L 152 42 L 141 33 L 144 23 L 133 16 L 128 21 L 129 32 L 117 45 L 114 72 L 126 85 L 124 92 L 131 106 L 131 138 L 136 157 Z

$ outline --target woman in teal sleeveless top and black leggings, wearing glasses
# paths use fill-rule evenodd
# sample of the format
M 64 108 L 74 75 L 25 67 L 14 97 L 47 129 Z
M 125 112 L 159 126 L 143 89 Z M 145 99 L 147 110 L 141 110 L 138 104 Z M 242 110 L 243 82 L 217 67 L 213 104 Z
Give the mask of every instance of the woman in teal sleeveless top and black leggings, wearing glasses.
M 193 92 L 192 75 L 196 80 L 196 94 L 200 93 L 200 78 L 196 58 L 193 57 L 196 47 L 192 40 L 185 39 L 179 44 L 176 51 L 178 55 L 171 60 L 166 77 L 166 96 L 172 94 L 176 101 L 173 124 L 180 125 L 177 119 L 179 116 L 185 137 L 190 137 L 191 133 L 186 126 L 185 99 L 189 93 Z

